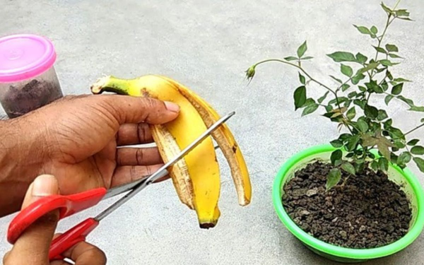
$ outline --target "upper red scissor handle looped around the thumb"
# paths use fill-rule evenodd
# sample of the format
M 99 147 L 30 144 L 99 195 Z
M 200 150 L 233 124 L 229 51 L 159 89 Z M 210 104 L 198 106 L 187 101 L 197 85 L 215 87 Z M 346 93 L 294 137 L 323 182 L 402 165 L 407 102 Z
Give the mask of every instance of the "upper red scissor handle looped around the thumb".
M 59 209 L 60 220 L 73 215 L 73 213 L 78 213 L 86 208 L 95 206 L 102 200 L 106 192 L 107 190 L 105 188 L 98 188 L 68 196 L 45 196 L 30 204 L 27 208 L 24 208 L 13 218 L 8 227 L 7 240 L 9 243 L 14 244 L 28 226 L 50 211 Z

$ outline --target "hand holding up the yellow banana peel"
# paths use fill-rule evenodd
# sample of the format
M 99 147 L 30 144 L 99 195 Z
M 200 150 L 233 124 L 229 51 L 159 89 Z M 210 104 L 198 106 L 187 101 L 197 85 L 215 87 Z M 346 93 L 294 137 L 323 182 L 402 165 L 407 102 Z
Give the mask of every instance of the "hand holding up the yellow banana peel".
M 0 214 L 18 211 L 37 175 L 58 176 L 65 195 L 151 175 L 163 165 L 157 148 L 117 147 L 152 142 L 148 124 L 170 122 L 178 112 L 174 103 L 152 98 L 80 95 L 6 121 Z

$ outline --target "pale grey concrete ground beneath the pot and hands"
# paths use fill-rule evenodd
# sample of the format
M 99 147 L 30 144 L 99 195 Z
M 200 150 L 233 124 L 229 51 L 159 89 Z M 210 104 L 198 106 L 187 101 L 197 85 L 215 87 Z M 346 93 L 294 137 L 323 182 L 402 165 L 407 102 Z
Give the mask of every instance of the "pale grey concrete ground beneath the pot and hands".
M 375 54 L 370 38 L 353 28 L 377 25 L 384 13 L 377 0 L 347 1 L 8 1 L 0 8 L 0 35 L 36 33 L 57 48 L 57 72 L 66 94 L 89 93 L 102 74 L 134 77 L 159 73 L 192 88 L 220 114 L 235 110 L 229 122 L 249 166 L 252 204 L 237 205 L 235 189 L 220 155 L 222 216 L 212 230 L 200 230 L 194 212 L 179 203 L 171 182 L 156 184 L 105 219 L 88 241 L 102 248 L 108 264 L 334 264 L 305 249 L 278 220 L 271 187 L 278 168 L 304 148 L 337 135 L 335 124 L 294 112 L 295 69 L 268 65 L 247 86 L 244 71 L 269 57 L 294 55 L 307 40 L 314 56 L 305 68 L 331 86 L 339 66 L 325 54 L 337 50 Z M 413 80 L 405 95 L 424 104 L 424 2 L 403 1 L 414 22 L 396 21 L 387 41 L 404 63 L 394 74 Z M 101 4 L 100 4 L 101 3 Z M 393 6 L 394 0 L 387 0 Z M 310 89 L 311 95 L 324 90 Z M 389 115 L 403 129 L 417 115 L 393 102 Z M 416 136 L 423 135 L 423 131 Z M 412 166 L 420 182 L 424 176 Z M 63 220 L 63 231 L 93 216 L 111 201 Z M 0 219 L 0 253 L 12 216 Z M 424 236 L 403 252 L 367 264 L 423 264 Z

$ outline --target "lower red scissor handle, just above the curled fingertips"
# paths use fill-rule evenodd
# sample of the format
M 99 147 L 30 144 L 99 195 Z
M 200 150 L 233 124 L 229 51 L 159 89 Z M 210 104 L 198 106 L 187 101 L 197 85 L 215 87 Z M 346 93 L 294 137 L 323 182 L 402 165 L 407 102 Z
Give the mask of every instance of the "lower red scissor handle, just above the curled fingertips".
M 49 260 L 63 259 L 61 254 L 76 243 L 85 241 L 87 235 L 98 226 L 99 222 L 94 218 L 83 220 L 78 225 L 59 235 L 52 241 L 49 249 Z

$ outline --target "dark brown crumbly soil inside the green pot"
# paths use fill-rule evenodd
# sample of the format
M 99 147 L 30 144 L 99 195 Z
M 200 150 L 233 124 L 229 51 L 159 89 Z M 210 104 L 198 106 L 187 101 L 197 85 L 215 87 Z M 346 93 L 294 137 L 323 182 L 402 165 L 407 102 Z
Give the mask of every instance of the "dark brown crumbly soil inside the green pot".
M 388 245 L 408 232 L 411 209 L 406 194 L 382 172 L 366 169 L 325 192 L 332 165 L 319 162 L 295 173 L 284 187 L 285 211 L 305 232 L 351 248 Z

